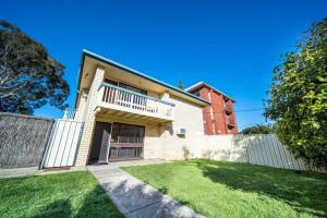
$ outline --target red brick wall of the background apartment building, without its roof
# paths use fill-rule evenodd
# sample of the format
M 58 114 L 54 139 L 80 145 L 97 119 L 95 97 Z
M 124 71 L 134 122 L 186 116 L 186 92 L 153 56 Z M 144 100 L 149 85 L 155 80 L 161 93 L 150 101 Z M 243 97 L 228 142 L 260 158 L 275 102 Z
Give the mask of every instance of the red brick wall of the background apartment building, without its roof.
M 209 97 L 210 95 L 210 97 Z M 228 100 L 226 104 L 231 108 L 231 113 L 227 114 L 225 110 L 225 99 L 221 94 L 214 92 L 207 87 L 202 87 L 199 89 L 199 96 L 211 102 L 210 106 L 206 106 L 203 109 L 203 120 L 205 134 L 237 134 L 238 126 L 235 122 L 235 114 L 233 110 L 233 104 Z M 211 109 L 210 109 L 211 108 Z M 213 110 L 213 117 L 211 111 Z M 228 128 L 228 119 L 234 123 L 234 128 Z

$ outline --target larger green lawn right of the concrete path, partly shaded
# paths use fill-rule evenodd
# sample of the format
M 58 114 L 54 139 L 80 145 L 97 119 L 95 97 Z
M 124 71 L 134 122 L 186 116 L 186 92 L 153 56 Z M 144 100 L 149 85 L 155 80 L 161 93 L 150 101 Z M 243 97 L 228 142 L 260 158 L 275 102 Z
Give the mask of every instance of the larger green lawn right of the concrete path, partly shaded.
M 327 175 L 211 160 L 126 167 L 207 217 L 327 217 Z

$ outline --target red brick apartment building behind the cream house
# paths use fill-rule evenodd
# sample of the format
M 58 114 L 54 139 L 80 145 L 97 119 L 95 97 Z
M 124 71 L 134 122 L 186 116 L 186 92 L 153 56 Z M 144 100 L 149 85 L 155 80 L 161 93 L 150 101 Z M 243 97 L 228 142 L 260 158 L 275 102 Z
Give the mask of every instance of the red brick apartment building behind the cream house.
M 238 133 L 233 109 L 235 100 L 204 82 L 198 82 L 185 90 L 211 102 L 203 109 L 205 134 Z

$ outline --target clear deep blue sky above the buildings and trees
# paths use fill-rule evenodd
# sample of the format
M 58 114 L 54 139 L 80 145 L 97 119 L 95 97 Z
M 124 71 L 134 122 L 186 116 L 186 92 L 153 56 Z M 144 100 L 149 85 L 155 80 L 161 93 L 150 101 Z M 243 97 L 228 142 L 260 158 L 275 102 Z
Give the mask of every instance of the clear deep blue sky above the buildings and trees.
M 294 50 L 326 0 L 270 1 L 15 1 L 7 20 L 65 65 L 74 106 L 82 49 L 172 85 L 207 82 L 237 100 L 240 129 L 264 123 L 263 99 L 280 55 Z M 59 118 L 45 106 L 37 116 Z

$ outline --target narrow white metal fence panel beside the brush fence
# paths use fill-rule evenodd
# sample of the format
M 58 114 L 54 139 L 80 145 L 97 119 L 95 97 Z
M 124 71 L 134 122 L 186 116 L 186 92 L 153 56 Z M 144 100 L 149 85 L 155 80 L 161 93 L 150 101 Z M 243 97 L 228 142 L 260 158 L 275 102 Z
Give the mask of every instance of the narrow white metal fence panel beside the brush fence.
M 43 167 L 72 167 L 83 130 L 83 122 L 56 120 L 49 140 Z

